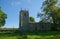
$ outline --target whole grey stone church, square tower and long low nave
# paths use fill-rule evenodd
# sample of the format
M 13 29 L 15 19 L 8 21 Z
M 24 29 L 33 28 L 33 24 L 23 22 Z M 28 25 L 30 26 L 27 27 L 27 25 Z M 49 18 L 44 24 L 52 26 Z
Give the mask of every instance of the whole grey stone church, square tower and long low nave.
M 20 10 L 19 12 L 19 29 L 23 31 L 51 30 L 51 23 L 29 22 L 29 11 Z

